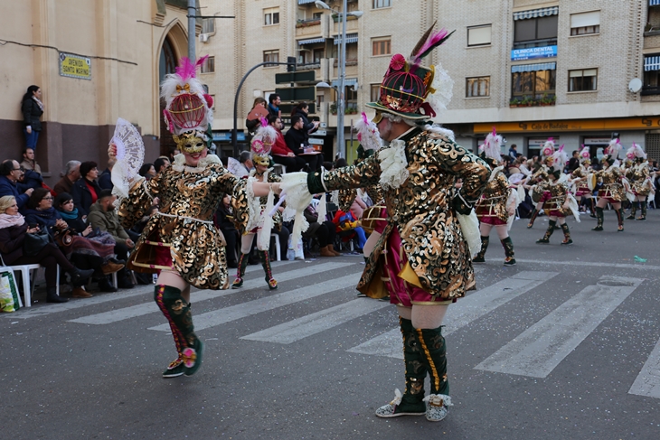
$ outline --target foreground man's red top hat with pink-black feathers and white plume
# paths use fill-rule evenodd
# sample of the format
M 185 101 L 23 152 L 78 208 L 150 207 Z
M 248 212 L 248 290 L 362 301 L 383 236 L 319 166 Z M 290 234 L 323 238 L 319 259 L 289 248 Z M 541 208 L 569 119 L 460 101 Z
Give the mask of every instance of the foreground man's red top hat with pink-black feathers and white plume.
M 391 57 L 382 79 L 380 99 L 367 103 L 367 107 L 417 120 L 438 117 L 447 108 L 454 81 L 439 64 L 429 69 L 421 67 L 424 57 L 453 33 L 445 29 L 434 31 L 435 25 L 422 35 L 408 60 L 401 53 Z

